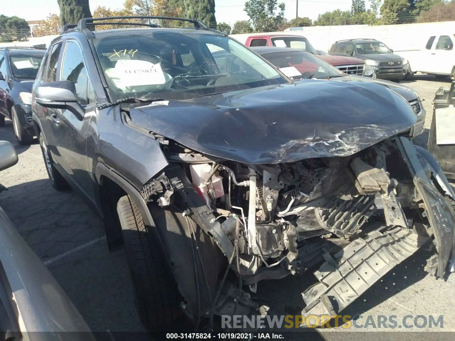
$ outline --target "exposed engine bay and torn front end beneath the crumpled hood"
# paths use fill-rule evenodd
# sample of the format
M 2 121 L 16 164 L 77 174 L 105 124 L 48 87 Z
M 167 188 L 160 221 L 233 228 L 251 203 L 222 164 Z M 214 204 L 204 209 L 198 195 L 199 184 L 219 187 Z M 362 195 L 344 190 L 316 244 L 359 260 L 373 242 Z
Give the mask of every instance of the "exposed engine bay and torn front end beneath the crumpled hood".
M 450 226 L 451 242 L 453 191 L 406 138 L 350 156 L 267 165 L 202 155 L 172 140 L 163 145 L 171 169 L 142 189 L 144 199 L 167 206 L 179 193 L 253 292 L 261 280 L 324 262 L 315 272 L 320 283 L 303 293 L 303 315 L 336 314 L 434 234 L 438 254 L 427 271 L 443 276 L 451 246 L 443 251 L 440 223 Z M 439 199 L 446 214 L 433 219 L 429 203 Z M 360 268 L 373 277 L 358 275 Z

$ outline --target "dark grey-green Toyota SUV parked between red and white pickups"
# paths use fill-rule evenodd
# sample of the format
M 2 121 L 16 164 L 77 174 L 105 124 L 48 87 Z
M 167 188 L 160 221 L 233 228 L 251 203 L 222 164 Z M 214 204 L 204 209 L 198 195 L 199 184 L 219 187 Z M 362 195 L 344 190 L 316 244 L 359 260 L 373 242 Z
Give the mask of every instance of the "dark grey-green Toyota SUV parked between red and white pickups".
M 395 55 L 384 43 L 375 39 L 349 39 L 336 41 L 329 50 L 330 55 L 351 56 L 365 60 L 379 79 L 403 80 L 409 63 Z

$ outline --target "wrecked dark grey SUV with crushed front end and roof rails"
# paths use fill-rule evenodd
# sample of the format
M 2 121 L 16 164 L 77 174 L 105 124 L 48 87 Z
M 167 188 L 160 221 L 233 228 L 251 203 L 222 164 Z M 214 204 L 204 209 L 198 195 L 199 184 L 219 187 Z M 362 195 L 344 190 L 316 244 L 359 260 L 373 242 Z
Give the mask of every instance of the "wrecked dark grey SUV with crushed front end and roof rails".
M 125 246 L 150 330 L 263 315 L 248 288 L 313 266 L 319 282 L 296 300 L 334 315 L 429 239 L 427 271 L 448 271 L 455 196 L 411 142 L 403 97 L 355 78 L 295 82 L 197 20 L 94 30 L 105 19 L 53 40 L 33 119 L 52 185 L 103 217 L 111 251 Z

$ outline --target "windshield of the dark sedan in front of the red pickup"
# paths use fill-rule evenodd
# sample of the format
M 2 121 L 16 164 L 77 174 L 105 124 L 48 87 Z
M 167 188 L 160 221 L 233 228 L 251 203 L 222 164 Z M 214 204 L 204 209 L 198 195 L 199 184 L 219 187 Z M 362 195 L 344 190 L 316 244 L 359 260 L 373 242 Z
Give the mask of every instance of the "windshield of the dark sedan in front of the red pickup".
M 288 75 L 293 79 L 325 79 L 344 75 L 343 72 L 308 52 L 275 52 L 266 53 L 263 57 L 285 75 L 290 72 Z

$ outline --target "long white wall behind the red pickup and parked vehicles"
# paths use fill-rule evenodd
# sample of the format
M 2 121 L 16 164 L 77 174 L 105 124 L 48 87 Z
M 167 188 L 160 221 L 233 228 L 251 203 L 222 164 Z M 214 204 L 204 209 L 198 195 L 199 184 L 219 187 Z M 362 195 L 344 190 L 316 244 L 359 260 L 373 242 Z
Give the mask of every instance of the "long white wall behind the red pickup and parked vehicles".
M 422 49 L 431 35 L 441 32 L 455 34 L 455 21 L 403 24 L 403 25 L 342 25 L 342 26 L 310 26 L 298 31 L 271 32 L 280 34 L 303 35 L 316 50 L 329 51 L 330 46 L 343 39 L 371 38 L 382 41 L 396 52 Z M 245 43 L 251 35 L 261 33 L 231 35 L 234 39 Z

